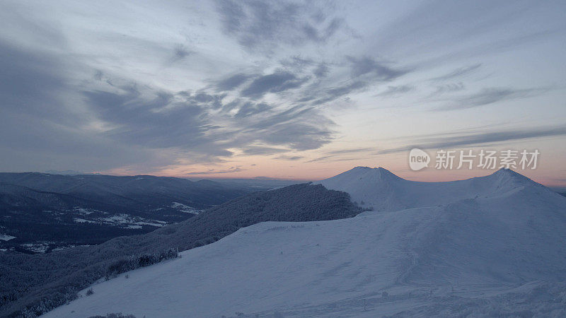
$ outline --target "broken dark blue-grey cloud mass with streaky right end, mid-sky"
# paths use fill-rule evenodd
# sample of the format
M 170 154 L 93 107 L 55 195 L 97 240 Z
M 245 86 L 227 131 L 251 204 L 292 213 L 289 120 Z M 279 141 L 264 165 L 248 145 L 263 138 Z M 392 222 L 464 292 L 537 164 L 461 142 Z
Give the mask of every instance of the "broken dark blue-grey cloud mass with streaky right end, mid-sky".
M 267 102 L 225 102 L 222 94 L 166 92 L 133 82 L 110 81 L 104 90 L 83 91 L 83 96 L 98 118 L 113 127 L 103 132 L 107 138 L 175 148 L 192 160 L 231 157 L 229 148 L 240 148 L 246 155 L 311 150 L 333 136 L 333 122 L 312 107 L 281 110 Z M 257 143 L 266 146 L 253 146 Z

